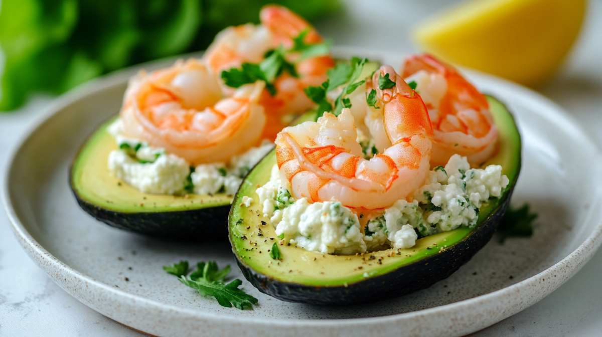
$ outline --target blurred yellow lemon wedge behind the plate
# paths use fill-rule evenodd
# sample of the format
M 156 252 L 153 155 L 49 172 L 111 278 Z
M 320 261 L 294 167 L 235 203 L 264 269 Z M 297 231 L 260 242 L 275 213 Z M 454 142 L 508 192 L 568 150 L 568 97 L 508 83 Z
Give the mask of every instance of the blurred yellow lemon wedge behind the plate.
M 550 77 L 573 45 L 586 0 L 477 0 L 417 26 L 428 52 L 525 85 Z

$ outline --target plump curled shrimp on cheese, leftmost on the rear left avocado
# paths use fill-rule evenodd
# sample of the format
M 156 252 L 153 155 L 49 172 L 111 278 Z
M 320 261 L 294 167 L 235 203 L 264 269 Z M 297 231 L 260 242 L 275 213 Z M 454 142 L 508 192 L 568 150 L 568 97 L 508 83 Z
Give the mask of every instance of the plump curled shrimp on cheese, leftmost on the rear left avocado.
M 259 104 L 263 90 L 264 82 L 257 81 L 222 98 L 210 67 L 180 60 L 132 78 L 120 112 L 123 132 L 191 165 L 228 161 L 260 140 L 266 120 Z

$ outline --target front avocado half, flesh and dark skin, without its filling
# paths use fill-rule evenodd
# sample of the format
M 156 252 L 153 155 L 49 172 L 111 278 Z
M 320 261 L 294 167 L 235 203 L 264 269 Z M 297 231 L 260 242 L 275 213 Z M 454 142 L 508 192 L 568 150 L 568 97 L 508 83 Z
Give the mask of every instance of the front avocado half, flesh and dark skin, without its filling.
M 283 301 L 347 305 L 409 294 L 454 273 L 491 239 L 507 206 L 521 168 L 521 138 L 512 114 L 488 96 L 499 129 L 498 152 L 486 161 L 502 166 L 510 181 L 499 199 L 480 208 L 473 228 L 461 227 L 416 241 L 411 249 L 388 249 L 363 255 L 323 255 L 288 244 L 278 246 L 281 261 L 269 250 L 278 242 L 263 217 L 255 189 L 270 179 L 276 152 L 268 153 L 243 181 L 229 215 L 229 239 L 244 277 L 259 291 Z M 243 196 L 255 200 L 240 206 Z

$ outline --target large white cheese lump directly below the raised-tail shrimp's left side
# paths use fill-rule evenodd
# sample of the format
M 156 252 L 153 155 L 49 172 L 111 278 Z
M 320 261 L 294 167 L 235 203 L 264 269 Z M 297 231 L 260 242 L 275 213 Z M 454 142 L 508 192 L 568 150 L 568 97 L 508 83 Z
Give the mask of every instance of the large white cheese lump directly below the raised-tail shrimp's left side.
M 276 234 L 306 250 L 349 255 L 366 251 L 358 215 L 340 202 L 297 200 L 284 209 Z

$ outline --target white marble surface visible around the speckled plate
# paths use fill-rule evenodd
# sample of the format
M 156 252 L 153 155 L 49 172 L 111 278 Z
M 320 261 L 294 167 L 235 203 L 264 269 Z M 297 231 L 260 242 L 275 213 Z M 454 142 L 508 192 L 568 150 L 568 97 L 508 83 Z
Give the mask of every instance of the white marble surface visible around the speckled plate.
M 448 4 L 425 1 L 345 1 L 346 9 L 318 29 L 337 45 L 416 51 L 406 31 Z M 538 91 L 580 120 L 602 144 L 602 0 L 589 3 L 582 35 L 565 67 Z M 0 175 L 8 153 L 48 97 L 16 113 L 0 114 Z M 0 181 L 0 187 L 4 182 Z M 0 210 L 0 336 L 142 336 L 82 305 L 26 256 Z M 576 276 L 544 300 L 472 336 L 599 336 L 602 331 L 602 250 Z

